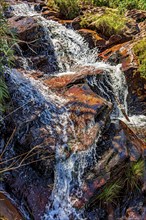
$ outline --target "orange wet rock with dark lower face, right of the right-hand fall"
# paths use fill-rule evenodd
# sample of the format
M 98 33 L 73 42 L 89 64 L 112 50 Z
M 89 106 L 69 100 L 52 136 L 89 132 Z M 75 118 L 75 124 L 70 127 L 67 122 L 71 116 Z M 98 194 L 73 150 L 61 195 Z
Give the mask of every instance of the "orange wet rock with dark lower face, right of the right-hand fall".
M 141 33 L 143 36 L 143 32 Z M 138 72 L 138 59 L 134 54 L 133 47 L 139 35 L 127 43 L 118 44 L 99 54 L 99 57 L 111 63 L 122 63 L 122 70 L 128 84 L 128 108 L 131 114 L 143 112 L 145 114 L 145 84 L 146 80 L 141 78 Z M 137 39 L 138 38 L 138 39 Z M 137 113 L 136 113 L 137 112 Z

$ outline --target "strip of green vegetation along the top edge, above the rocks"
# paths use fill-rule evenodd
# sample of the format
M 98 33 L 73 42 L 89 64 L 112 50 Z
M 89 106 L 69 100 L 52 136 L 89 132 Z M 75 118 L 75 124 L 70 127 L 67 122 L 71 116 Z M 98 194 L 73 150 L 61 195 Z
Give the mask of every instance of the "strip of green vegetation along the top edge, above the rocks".
M 120 12 L 133 8 L 146 10 L 145 0 L 47 0 L 47 3 L 49 7 L 58 9 L 61 15 L 67 19 L 78 16 L 85 5 L 118 8 Z

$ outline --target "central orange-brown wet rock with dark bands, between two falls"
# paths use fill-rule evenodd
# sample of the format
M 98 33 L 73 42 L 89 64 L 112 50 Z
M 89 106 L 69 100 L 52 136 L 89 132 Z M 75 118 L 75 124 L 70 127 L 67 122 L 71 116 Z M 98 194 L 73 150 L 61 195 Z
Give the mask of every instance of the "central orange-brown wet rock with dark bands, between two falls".
M 76 134 L 76 138 L 70 141 L 72 149 L 89 149 L 109 118 L 112 105 L 95 95 L 87 85 L 73 86 L 63 95 L 69 99 L 70 118 Z M 103 117 L 101 111 L 104 112 Z

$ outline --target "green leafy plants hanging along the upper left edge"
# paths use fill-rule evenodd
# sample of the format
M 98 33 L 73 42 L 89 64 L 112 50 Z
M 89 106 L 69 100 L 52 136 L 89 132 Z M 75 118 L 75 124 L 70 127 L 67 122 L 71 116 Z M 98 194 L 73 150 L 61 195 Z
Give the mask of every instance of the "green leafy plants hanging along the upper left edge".
M 4 111 L 4 101 L 8 98 L 8 89 L 4 80 L 5 67 L 10 67 L 13 62 L 14 37 L 10 32 L 3 9 L 6 5 L 0 3 L 0 111 Z

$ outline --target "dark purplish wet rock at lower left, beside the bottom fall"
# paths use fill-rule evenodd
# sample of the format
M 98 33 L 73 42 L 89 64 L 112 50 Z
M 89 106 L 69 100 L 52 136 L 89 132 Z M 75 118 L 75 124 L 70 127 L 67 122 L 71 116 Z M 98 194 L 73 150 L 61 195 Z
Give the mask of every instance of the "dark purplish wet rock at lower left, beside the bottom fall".
M 25 219 L 41 219 L 52 192 L 52 184 L 50 179 L 43 179 L 28 166 L 14 170 L 5 178 L 6 190 L 18 201 L 17 205 L 25 210 Z M 24 216 L 18 218 L 21 219 Z

